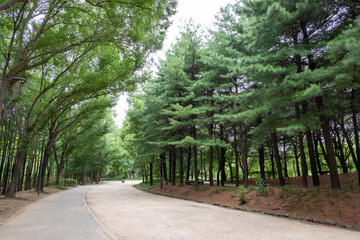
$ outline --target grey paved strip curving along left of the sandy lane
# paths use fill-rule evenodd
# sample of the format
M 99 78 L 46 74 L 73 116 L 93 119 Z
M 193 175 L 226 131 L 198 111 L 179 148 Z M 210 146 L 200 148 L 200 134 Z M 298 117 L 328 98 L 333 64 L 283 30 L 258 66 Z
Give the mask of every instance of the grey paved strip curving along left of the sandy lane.
M 43 198 L 0 227 L 1 240 L 108 240 L 90 215 L 81 186 Z

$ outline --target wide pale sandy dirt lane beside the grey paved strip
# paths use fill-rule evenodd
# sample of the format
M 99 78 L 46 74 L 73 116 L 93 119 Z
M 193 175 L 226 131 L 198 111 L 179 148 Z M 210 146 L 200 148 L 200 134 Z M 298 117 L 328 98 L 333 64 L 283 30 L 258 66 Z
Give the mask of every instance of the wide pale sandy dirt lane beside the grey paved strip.
M 360 232 L 152 195 L 115 182 L 86 200 L 118 239 L 360 239 Z

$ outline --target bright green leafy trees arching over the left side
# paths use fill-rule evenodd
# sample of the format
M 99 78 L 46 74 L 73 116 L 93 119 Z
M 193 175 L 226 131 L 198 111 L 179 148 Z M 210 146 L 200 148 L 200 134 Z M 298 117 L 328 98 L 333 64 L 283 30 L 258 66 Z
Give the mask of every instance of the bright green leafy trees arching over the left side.
M 72 176 L 99 180 L 114 153 L 112 143 L 104 148 L 111 129 L 106 109 L 146 76 L 140 70 L 161 47 L 175 6 L 0 1 L 2 194 L 15 197 L 23 186 L 41 191 L 54 164 L 59 184 L 67 159 Z

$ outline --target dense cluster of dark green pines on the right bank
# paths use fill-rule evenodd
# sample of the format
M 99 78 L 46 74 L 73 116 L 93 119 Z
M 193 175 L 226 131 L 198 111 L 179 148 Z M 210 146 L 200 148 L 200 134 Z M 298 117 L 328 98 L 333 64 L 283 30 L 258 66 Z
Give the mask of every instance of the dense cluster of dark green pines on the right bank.
M 208 41 L 188 24 L 123 128 L 143 176 L 306 187 L 329 173 L 339 188 L 339 172 L 360 174 L 359 14 L 350 0 L 241 0 Z

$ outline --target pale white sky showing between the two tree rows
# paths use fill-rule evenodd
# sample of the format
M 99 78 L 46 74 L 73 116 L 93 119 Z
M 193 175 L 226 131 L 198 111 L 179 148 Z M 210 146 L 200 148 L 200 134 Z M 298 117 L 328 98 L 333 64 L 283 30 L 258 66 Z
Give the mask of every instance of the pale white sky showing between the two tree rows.
M 164 59 L 165 53 L 175 43 L 176 38 L 180 36 L 179 32 L 185 23 L 193 20 L 195 24 L 200 24 L 204 30 L 211 29 L 215 22 L 215 16 L 220 11 L 221 7 L 225 7 L 229 3 L 235 3 L 236 0 L 179 0 L 177 6 L 177 13 L 171 18 L 172 25 L 167 31 L 167 36 L 163 43 L 162 50 L 158 51 L 154 59 Z M 121 127 L 123 120 L 128 110 L 127 95 L 123 94 L 114 107 L 116 117 L 115 123 Z

